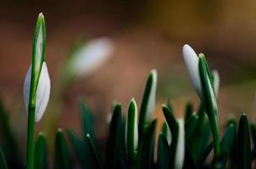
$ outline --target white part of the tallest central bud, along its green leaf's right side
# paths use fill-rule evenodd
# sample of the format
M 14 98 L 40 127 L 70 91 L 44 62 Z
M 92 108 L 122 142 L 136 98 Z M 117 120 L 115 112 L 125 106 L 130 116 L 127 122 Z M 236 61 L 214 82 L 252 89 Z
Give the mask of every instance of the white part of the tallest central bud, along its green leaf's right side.
M 153 112 L 155 108 L 155 101 L 156 101 L 156 93 L 157 93 L 157 81 L 158 81 L 158 75 L 157 70 L 153 69 L 151 71 L 151 74 L 153 74 L 153 84 L 151 87 L 151 93 L 149 94 L 147 109 L 146 109 L 146 122 L 150 123 L 153 117 Z

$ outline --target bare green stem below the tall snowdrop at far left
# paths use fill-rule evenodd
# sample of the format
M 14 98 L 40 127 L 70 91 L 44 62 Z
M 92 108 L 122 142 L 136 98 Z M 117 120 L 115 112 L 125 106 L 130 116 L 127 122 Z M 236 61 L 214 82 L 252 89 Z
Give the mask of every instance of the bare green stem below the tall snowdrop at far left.
M 35 130 L 35 106 L 29 106 L 29 119 L 27 131 L 27 168 L 34 169 L 34 130 Z

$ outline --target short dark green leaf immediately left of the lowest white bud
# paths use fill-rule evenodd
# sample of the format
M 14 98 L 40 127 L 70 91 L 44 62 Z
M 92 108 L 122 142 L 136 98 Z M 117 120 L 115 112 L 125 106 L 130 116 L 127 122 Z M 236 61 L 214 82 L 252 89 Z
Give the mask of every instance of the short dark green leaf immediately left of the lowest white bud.
M 164 134 L 159 134 L 158 165 L 159 169 L 170 168 L 170 147 Z

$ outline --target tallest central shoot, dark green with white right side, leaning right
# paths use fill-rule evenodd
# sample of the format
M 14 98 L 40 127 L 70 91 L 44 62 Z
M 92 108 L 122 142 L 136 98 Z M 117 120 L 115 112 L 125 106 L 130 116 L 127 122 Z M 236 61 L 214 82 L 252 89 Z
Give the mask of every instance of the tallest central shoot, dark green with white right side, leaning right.
M 155 107 L 155 97 L 157 91 L 157 71 L 153 69 L 147 79 L 147 84 L 142 98 L 142 105 L 139 117 L 139 132 L 140 135 L 145 132 L 149 123 L 153 118 L 153 111 Z

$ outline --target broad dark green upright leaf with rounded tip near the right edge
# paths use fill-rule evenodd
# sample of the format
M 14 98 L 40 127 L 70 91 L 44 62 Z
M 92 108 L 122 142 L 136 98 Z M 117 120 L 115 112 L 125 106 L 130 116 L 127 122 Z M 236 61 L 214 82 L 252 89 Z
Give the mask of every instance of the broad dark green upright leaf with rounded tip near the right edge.
M 239 121 L 237 141 L 238 168 L 252 168 L 250 130 L 248 118 L 245 114 L 242 115 Z

